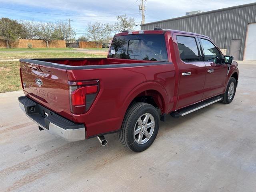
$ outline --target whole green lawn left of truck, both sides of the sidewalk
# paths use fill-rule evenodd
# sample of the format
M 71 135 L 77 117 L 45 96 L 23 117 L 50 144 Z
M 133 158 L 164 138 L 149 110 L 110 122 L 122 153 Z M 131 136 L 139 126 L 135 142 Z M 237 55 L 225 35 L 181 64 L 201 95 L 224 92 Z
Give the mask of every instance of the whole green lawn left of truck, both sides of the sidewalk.
M 106 57 L 106 55 L 87 54 L 81 52 L 28 52 L 0 53 L 0 59 L 14 58 L 85 58 Z M 20 83 L 20 62 L 0 62 L 0 93 L 22 90 Z

